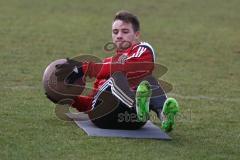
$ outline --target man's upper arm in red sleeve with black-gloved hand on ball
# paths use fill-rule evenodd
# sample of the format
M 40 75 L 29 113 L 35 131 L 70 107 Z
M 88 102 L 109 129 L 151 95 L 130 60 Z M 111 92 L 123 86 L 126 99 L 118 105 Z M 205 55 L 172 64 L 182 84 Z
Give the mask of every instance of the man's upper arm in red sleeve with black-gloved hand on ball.
M 107 58 L 103 63 L 78 62 L 67 60 L 66 64 L 56 66 L 56 76 L 67 83 L 74 83 L 78 79 L 96 77 L 108 79 L 115 72 L 123 72 L 128 78 L 136 78 L 139 75 L 149 75 L 154 69 L 154 51 L 151 47 L 139 45 L 131 51 L 131 57 L 121 62 L 112 62 Z

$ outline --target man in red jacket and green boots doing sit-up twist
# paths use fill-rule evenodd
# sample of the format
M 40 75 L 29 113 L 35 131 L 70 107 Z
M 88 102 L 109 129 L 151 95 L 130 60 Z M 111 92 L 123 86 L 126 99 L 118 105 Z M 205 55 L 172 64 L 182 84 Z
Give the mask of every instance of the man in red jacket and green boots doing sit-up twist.
M 138 18 L 128 11 L 120 11 L 112 23 L 116 54 L 105 58 L 102 63 L 76 63 L 68 59 L 66 63 L 56 66 L 56 76 L 64 77 L 69 84 L 78 79 L 85 80 L 87 76 L 96 78 L 92 93 L 76 96 L 71 106 L 89 113 L 90 117 L 93 115 L 93 123 L 101 128 L 140 128 L 149 119 L 149 110 L 153 110 L 161 120 L 162 128 L 171 131 L 175 124 L 174 117 L 179 111 L 178 103 L 173 98 L 167 98 L 152 76 L 154 50 L 150 44 L 140 42 L 139 36 Z M 69 68 L 71 74 L 66 75 Z M 107 109 L 104 115 L 96 116 L 97 110 L 109 106 L 111 110 Z M 120 121 L 123 114 L 136 115 L 136 119 Z

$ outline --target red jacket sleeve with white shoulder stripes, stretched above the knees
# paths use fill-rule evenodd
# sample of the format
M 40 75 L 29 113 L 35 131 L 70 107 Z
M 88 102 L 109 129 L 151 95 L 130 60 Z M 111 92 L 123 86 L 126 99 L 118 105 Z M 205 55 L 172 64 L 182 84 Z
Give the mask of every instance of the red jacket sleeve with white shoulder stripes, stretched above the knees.
M 88 62 L 84 64 L 84 73 L 89 77 L 108 79 L 114 72 L 123 72 L 128 78 L 142 74 L 151 74 L 154 69 L 154 53 L 151 48 L 137 46 L 131 51 L 131 57 L 121 62 L 105 61 L 103 63 Z

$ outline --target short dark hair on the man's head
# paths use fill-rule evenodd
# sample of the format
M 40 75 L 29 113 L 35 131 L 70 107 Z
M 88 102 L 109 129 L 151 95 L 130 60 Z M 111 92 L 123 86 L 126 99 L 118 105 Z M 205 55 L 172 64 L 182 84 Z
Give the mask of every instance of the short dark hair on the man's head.
M 131 23 L 133 26 L 133 30 L 135 32 L 140 31 L 140 23 L 139 23 L 138 17 L 129 11 L 122 10 L 122 11 L 117 12 L 113 19 L 113 22 L 116 20 L 121 20 L 126 23 Z

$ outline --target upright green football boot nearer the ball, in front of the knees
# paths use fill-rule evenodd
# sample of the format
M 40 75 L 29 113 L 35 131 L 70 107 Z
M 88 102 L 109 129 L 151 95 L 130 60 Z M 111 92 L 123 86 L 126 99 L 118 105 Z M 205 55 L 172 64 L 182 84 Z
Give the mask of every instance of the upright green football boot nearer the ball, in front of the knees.
M 136 91 L 136 111 L 138 121 L 145 122 L 149 119 L 149 102 L 152 95 L 148 81 L 142 81 Z

